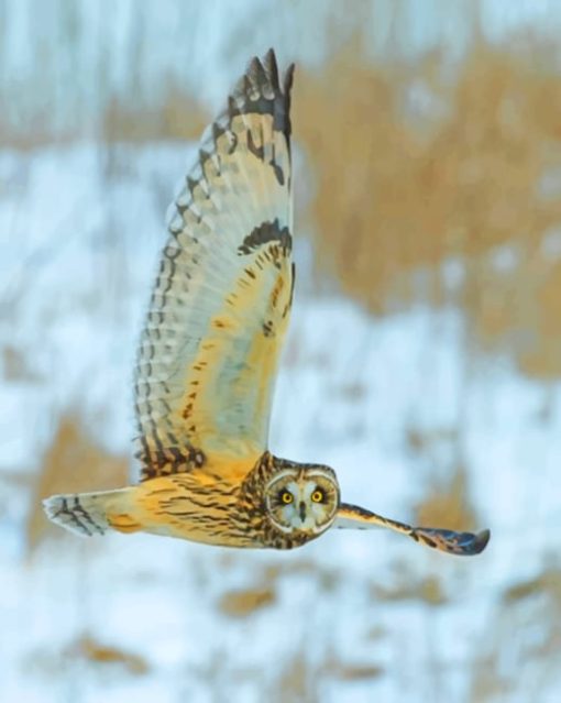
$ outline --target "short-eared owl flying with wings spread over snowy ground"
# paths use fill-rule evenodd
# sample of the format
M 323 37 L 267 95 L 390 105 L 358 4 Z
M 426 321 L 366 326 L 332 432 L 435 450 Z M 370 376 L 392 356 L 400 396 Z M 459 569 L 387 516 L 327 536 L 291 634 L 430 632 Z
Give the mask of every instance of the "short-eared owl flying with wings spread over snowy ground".
M 135 373 L 141 482 L 52 496 L 46 514 L 79 535 L 275 549 L 381 526 L 476 554 L 488 530 L 410 527 L 341 503 L 332 469 L 267 449 L 295 277 L 293 72 L 279 76 L 273 51 L 253 58 L 175 201 Z

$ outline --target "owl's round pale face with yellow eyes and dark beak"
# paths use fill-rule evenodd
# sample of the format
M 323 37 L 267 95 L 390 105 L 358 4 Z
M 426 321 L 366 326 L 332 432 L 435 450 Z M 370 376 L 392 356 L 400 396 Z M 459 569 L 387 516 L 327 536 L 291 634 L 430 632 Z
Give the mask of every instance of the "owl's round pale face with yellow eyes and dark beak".
M 339 484 L 329 466 L 295 464 L 277 471 L 265 486 L 270 520 L 285 534 L 309 539 L 326 531 L 336 519 Z

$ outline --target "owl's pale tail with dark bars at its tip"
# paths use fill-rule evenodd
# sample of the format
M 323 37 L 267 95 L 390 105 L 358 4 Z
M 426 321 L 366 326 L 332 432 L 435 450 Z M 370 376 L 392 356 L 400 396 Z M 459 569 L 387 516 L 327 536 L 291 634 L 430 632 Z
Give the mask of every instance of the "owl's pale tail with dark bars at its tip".
M 135 532 L 142 526 L 130 514 L 133 491 L 53 495 L 43 501 L 43 508 L 50 520 L 82 537 L 105 535 L 108 529 Z

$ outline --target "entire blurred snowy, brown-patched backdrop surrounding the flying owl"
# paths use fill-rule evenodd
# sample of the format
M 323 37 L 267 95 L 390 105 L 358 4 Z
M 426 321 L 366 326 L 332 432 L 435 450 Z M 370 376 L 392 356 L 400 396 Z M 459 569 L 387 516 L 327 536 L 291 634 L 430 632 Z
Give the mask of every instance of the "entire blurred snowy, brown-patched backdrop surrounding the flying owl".
M 0 0 L 2 701 L 560 700 L 560 36 L 539 0 Z M 134 472 L 164 215 L 270 46 L 297 63 L 272 449 L 491 527 L 479 558 L 81 541 L 38 507 Z

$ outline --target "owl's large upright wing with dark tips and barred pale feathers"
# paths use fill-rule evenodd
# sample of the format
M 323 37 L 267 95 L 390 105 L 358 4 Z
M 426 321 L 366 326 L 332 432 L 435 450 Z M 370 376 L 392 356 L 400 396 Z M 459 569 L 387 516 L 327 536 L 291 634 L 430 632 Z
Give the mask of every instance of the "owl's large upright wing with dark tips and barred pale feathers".
M 266 449 L 294 286 L 293 69 L 251 62 L 175 202 L 139 350 L 142 479 Z

